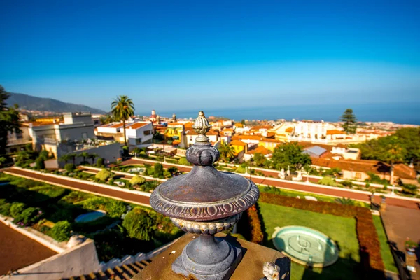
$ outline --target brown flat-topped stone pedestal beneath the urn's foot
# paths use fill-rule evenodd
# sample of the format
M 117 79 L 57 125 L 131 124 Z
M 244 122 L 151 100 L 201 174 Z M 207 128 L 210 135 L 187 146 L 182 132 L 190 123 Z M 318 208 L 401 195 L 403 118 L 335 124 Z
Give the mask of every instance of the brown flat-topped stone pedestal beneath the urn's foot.
M 167 250 L 163 251 L 159 255 L 156 255 L 151 259 L 151 264 L 143 269 L 139 274 L 134 276 L 134 280 L 161 280 L 161 279 L 174 279 L 174 280 L 185 280 L 185 279 L 196 279 L 193 276 L 185 276 L 182 270 L 183 265 L 179 265 L 181 260 L 182 251 L 186 248 L 186 245 L 195 239 L 198 235 L 186 234 L 183 235 L 178 241 L 172 246 L 169 246 Z M 251 243 L 246 240 L 237 239 L 235 237 L 226 236 L 222 233 L 216 235 L 216 237 L 223 237 L 229 244 L 240 248 L 241 255 L 238 255 L 237 260 L 240 260 L 239 264 L 236 263 L 236 269 L 231 269 L 229 273 L 224 276 L 221 275 L 209 275 L 209 277 L 219 278 L 207 278 L 207 279 L 231 279 L 231 280 L 246 280 L 246 279 L 262 279 L 262 268 L 265 262 L 274 262 L 280 267 L 280 279 L 290 279 L 290 258 L 281 254 L 279 251 L 260 246 L 258 244 Z M 173 253 L 174 252 L 174 253 Z M 238 251 L 239 252 L 239 251 Z M 176 272 L 172 271 L 175 266 L 179 267 L 180 270 L 175 269 Z M 233 266 L 232 266 L 233 267 Z M 206 279 L 206 278 L 204 278 Z

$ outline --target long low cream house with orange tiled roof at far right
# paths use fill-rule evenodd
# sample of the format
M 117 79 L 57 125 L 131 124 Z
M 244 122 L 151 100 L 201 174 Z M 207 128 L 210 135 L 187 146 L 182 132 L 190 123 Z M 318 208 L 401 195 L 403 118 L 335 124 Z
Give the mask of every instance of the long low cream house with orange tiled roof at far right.
M 312 166 L 316 168 L 339 168 L 343 179 L 364 181 L 369 179 L 369 173 L 376 174 L 381 179 L 391 181 L 390 165 L 377 160 L 335 160 L 333 158 L 312 158 Z M 396 179 L 416 179 L 416 172 L 407 165 L 394 165 L 393 181 Z M 393 182 L 391 182 L 393 183 Z

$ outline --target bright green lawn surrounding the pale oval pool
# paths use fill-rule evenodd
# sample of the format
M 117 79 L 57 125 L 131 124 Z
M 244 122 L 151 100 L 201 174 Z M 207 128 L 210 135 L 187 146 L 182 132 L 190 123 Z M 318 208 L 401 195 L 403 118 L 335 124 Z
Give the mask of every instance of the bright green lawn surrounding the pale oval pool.
M 265 231 L 265 246 L 274 248 L 272 234 L 274 228 L 286 225 L 303 225 L 314 228 L 328 235 L 339 246 L 339 260 L 334 265 L 325 268 L 305 268 L 292 262 L 291 279 L 359 279 L 360 255 L 356 236 L 356 220 L 319 214 L 316 212 L 282 207 L 260 202 L 263 230 Z

